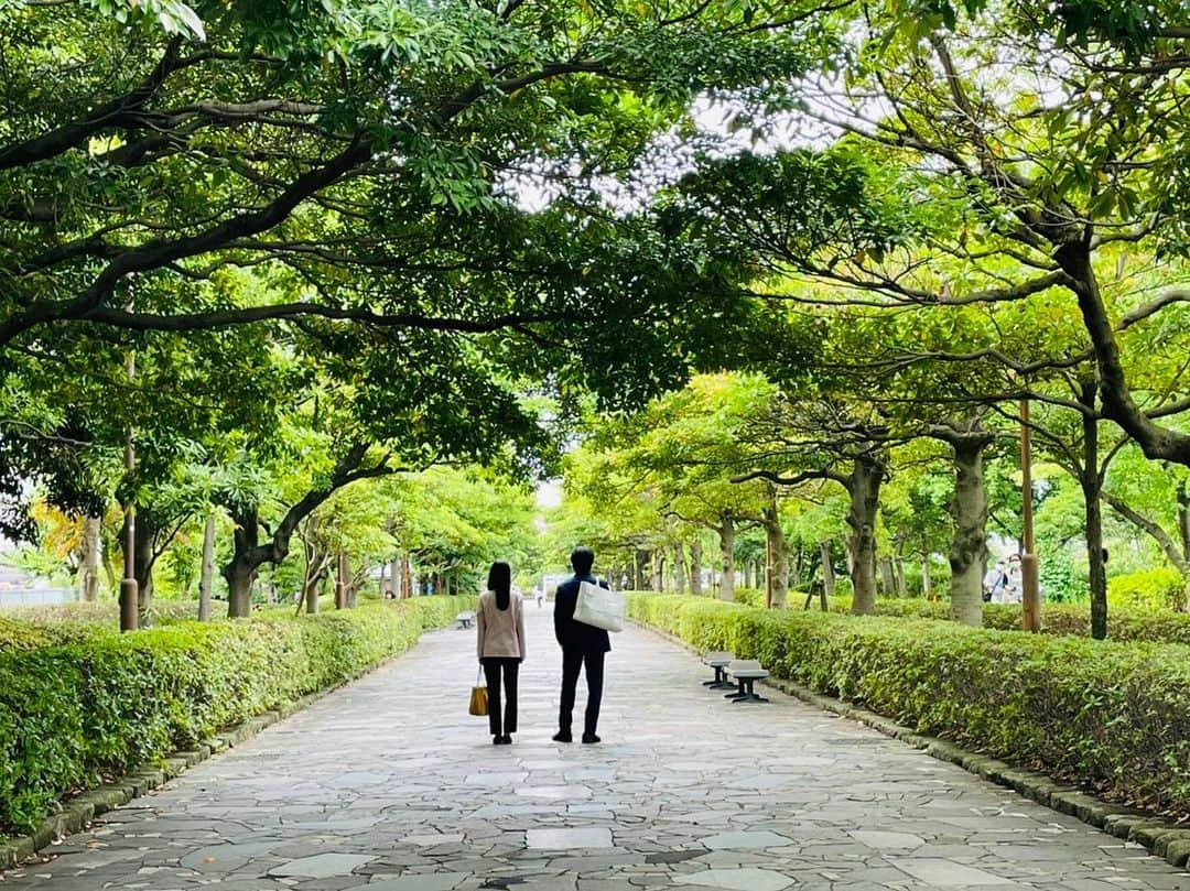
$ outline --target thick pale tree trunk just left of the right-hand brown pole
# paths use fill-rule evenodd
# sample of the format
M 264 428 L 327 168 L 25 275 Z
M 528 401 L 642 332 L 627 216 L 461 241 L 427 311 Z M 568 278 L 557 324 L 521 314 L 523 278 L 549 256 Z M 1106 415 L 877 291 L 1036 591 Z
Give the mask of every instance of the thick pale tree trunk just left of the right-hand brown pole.
M 983 484 L 983 452 L 990 439 L 984 435 L 957 437 L 954 452 L 954 497 L 951 516 L 951 620 L 978 628 L 983 625 L 983 576 L 988 567 L 988 494 Z

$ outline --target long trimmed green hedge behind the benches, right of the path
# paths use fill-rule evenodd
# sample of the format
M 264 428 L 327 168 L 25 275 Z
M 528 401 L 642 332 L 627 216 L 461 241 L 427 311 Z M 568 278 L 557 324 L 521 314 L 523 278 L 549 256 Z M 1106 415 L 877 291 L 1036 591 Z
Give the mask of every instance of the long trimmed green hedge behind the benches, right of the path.
M 1190 811 L 1190 647 L 631 595 L 700 650 L 1119 801 Z

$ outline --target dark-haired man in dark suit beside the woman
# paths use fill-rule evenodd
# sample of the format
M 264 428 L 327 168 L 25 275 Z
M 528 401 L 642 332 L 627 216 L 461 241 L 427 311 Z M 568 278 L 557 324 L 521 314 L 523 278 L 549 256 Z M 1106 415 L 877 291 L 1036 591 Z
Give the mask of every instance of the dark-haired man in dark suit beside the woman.
M 591 575 L 595 552 L 589 547 L 576 547 L 570 554 L 575 570 L 572 578 L 560 585 L 553 597 L 553 634 L 562 647 L 562 705 L 558 709 L 558 732 L 555 742 L 571 742 L 571 714 L 575 710 L 575 694 L 578 688 L 578 671 L 587 674 L 587 711 L 583 715 L 583 742 L 599 742 L 595 730 L 599 724 L 599 707 L 603 698 L 603 654 L 612 648 L 607 632 L 591 625 L 575 621 L 578 603 L 578 586 L 582 582 L 607 588 L 607 582 L 596 581 Z

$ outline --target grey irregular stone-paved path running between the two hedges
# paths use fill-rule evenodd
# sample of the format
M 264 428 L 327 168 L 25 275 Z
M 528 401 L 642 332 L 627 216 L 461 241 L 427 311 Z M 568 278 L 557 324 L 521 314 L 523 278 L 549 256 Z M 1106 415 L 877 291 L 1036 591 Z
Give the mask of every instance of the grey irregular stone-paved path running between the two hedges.
M 466 714 L 474 632 L 427 634 L 0 887 L 1190 890 L 1142 848 L 873 730 L 776 692 L 727 703 L 640 629 L 613 640 L 606 742 L 551 742 L 559 655 L 549 607 L 527 605 L 513 746 Z

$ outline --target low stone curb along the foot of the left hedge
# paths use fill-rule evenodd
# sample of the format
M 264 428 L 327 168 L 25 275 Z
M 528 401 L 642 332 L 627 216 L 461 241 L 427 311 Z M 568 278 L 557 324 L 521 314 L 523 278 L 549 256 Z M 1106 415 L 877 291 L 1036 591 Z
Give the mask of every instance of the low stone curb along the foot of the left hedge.
M 399 655 L 400 653 L 396 653 L 392 659 Z M 42 848 L 49 847 L 68 835 L 81 832 L 100 814 L 106 814 L 123 804 L 127 804 L 133 798 L 139 798 L 157 786 L 163 785 L 167 780 L 178 776 L 188 767 L 201 764 L 214 754 L 225 752 L 250 740 L 265 727 L 271 727 L 277 721 L 282 721 L 294 713 L 301 711 L 324 696 L 346 686 L 365 674 L 378 671 L 390 663 L 392 659 L 384 659 L 368 671 L 333 686 L 307 694 L 292 703 L 282 705 L 280 709 L 263 711 L 255 717 L 225 728 L 211 739 L 203 740 L 194 748 L 171 752 L 161 759 L 158 766 L 144 764 L 119 779 L 104 783 L 94 789 L 88 789 L 86 792 L 63 802 L 61 811 L 43 820 L 29 835 L 0 835 L 0 873 L 5 870 L 20 866 Z M 4 877 L 0 876 L 0 880 L 2 879 Z

